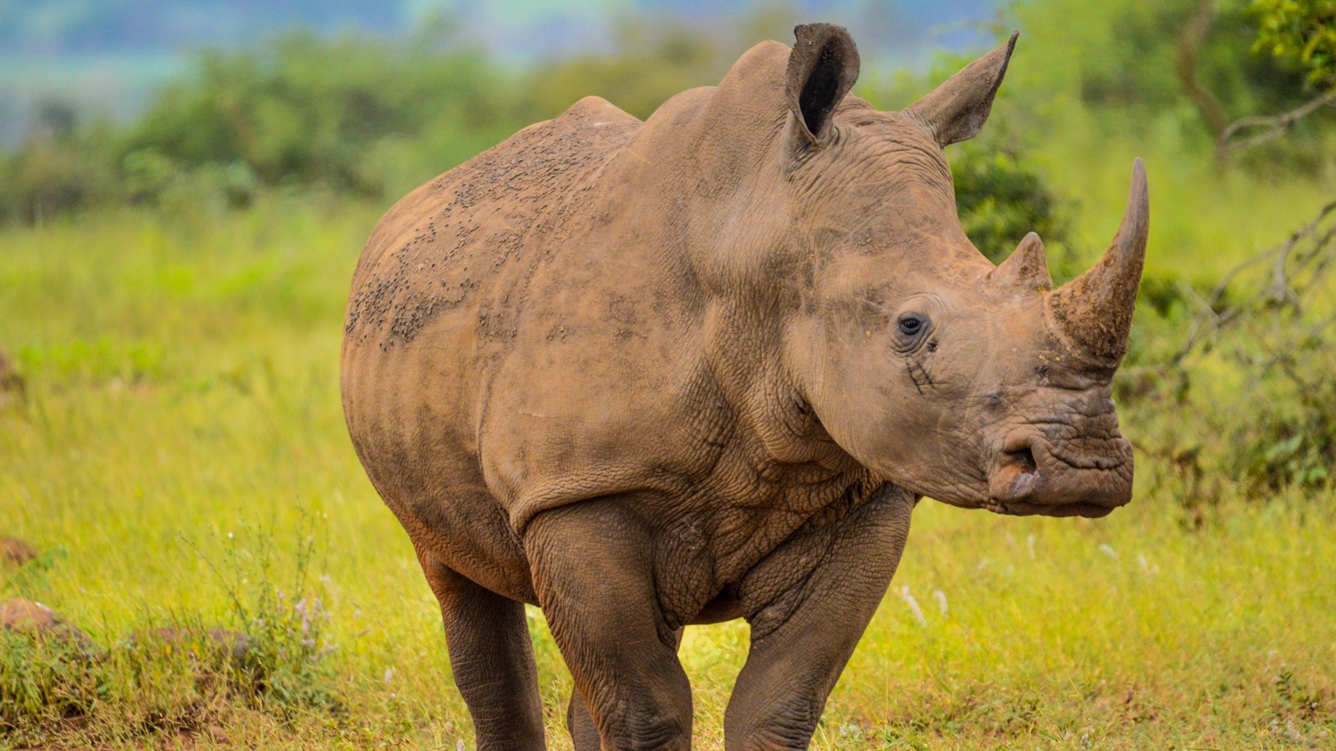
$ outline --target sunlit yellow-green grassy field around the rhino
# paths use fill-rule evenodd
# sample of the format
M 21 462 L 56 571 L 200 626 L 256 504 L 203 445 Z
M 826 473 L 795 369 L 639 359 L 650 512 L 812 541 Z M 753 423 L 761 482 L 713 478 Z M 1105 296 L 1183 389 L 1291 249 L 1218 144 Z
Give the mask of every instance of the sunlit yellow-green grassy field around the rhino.
M 1126 182 L 1110 182 L 1086 203 L 1090 242 L 1117 220 Z M 1160 184 L 1156 265 L 1222 242 L 1214 267 L 1279 237 L 1242 206 L 1289 227 L 1317 200 Z M 91 694 L 67 718 L 15 710 L 0 747 L 472 747 L 436 601 L 339 410 L 343 299 L 375 218 L 273 198 L 0 231 L 0 347 L 28 381 L 0 406 L 0 536 L 43 552 L 0 568 L 0 597 L 52 605 L 110 655 L 60 678 L 7 641 L 7 702 L 84 690 L 61 680 Z M 1133 441 L 1156 420 L 1192 416 L 1124 412 Z M 923 502 L 816 747 L 1336 747 L 1333 493 L 1226 493 L 1189 520 L 1172 473 L 1138 462 L 1136 501 L 1098 521 Z M 549 744 L 568 748 L 569 676 L 530 616 Z M 170 624 L 251 633 L 285 691 L 232 700 L 127 639 Z M 721 747 L 745 643 L 743 624 L 687 631 L 700 747 Z

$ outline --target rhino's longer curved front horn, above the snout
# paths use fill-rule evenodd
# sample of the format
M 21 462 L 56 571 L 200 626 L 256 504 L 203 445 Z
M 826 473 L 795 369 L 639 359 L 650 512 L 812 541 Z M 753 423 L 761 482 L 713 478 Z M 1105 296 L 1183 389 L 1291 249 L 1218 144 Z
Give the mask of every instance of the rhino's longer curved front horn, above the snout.
M 1128 208 L 1109 250 L 1085 274 L 1049 293 L 1049 310 L 1061 330 L 1078 351 L 1101 365 L 1116 366 L 1128 351 L 1149 229 L 1146 168 L 1137 159 Z

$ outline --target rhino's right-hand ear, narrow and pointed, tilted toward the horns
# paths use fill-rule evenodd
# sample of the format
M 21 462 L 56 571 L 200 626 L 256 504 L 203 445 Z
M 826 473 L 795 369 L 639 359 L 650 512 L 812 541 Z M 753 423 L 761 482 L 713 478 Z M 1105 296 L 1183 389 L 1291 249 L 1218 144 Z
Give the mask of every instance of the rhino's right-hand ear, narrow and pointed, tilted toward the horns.
M 983 128 L 993 110 L 993 96 L 1002 86 L 1006 64 L 1011 60 L 1015 37 L 970 63 L 931 94 L 910 104 L 904 115 L 927 128 L 938 146 L 969 140 Z

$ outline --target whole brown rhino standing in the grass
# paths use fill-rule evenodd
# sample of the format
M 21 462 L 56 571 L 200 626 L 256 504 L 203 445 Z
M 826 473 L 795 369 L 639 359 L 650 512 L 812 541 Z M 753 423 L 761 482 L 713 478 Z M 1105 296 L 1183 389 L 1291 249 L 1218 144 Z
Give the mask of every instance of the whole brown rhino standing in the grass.
M 900 112 L 831 24 L 641 122 L 585 98 L 394 204 L 353 277 L 343 409 L 440 600 L 478 748 L 544 748 L 525 603 L 578 750 L 688 748 L 689 624 L 745 619 L 728 748 L 803 748 L 918 501 L 1098 517 L 1146 249 L 966 238 L 943 147 L 1015 35 Z

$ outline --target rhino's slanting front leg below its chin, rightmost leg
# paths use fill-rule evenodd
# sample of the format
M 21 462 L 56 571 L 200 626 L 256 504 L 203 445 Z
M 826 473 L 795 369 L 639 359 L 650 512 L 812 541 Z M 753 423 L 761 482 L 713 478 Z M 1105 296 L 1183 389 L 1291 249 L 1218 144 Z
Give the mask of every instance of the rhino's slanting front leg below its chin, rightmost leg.
M 840 521 L 776 549 L 743 581 L 752 639 L 724 712 L 729 751 L 811 743 L 826 698 L 891 583 L 915 501 L 883 486 Z M 819 561 L 807 577 L 802 560 Z M 771 588 L 795 573 L 796 587 Z

